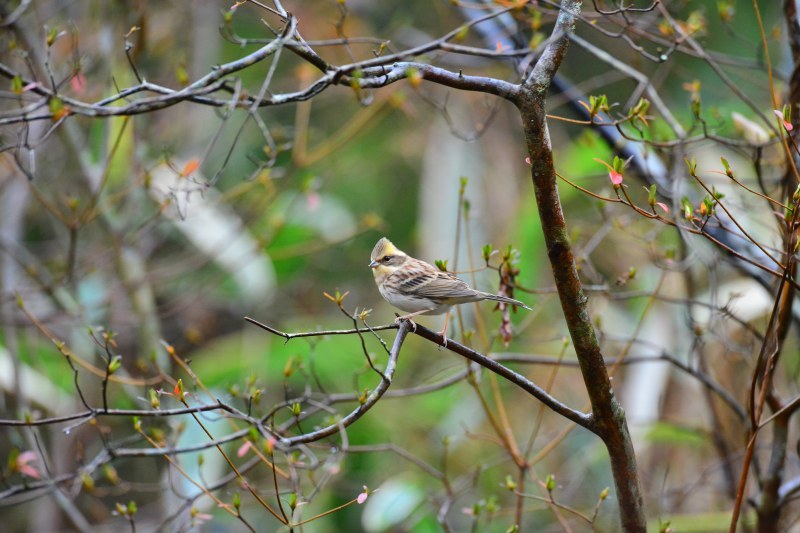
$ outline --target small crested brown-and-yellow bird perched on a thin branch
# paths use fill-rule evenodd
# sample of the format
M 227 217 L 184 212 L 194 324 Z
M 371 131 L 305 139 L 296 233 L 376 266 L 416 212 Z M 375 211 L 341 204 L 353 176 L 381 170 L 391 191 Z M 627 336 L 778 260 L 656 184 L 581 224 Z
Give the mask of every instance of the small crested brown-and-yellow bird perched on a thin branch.
M 410 257 L 386 237 L 379 240 L 372 249 L 370 259 L 369 267 L 381 296 L 408 313 L 397 320 L 417 315 L 448 313 L 444 329 L 440 332 L 442 337 L 447 332 L 447 319 L 453 305 L 494 300 L 530 310 L 530 307 L 518 300 L 476 291 L 453 274 L 442 272 L 425 261 Z

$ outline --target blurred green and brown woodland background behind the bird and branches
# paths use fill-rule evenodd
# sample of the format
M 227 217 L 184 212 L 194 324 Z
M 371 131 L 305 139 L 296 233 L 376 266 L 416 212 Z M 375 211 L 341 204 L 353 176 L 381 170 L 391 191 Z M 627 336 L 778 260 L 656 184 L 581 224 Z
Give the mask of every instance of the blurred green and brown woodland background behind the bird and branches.
M 341 65 L 418 46 L 459 28 L 466 19 L 457 4 L 348 0 L 287 2 L 285 7 L 309 45 Z M 782 94 L 790 56 L 780 3 L 760 4 L 775 91 Z M 0 13 L 8 17 L 19 6 L 11 2 Z M 267 23 L 279 27 L 257 5 L 231 6 L 205 0 L 33 2 L 0 29 L 0 62 L 25 79 L 48 84 L 52 77 L 61 93 L 87 102 L 137 85 L 137 74 L 156 86 L 180 89 L 215 65 L 263 45 L 257 40 L 273 37 Z M 669 120 L 690 136 L 702 132 L 692 108 L 698 99 L 706 127 L 715 135 L 743 142 L 762 133 L 770 138 L 770 125 L 759 124 L 754 111 L 772 116 L 751 3 L 679 1 L 667 7 L 741 94 L 734 94 L 710 62 L 688 46 L 677 51 L 670 46 L 676 36 L 658 10 L 637 13 L 635 23 L 620 29 L 617 19 L 584 6 L 589 11 L 577 34 L 640 72 L 669 111 L 665 117 L 651 107 L 641 137 L 627 126 L 626 131 L 665 143 L 643 154 L 660 162 L 674 187 L 670 213 L 678 216 L 682 196 L 699 201 L 705 194 L 685 171 L 683 159 L 694 157 L 701 175 L 724 191 L 748 230 L 766 246 L 778 246 L 774 207 L 733 185 L 719 163 L 725 157 L 742 182 L 777 194 L 782 177 L 777 148 L 760 148 L 754 165 L 749 147 L 712 138 L 669 144 L 677 138 Z M 549 35 L 555 13 L 548 4 L 533 2 L 513 15 L 535 47 Z M 630 42 L 594 29 L 593 21 L 666 60 L 652 61 Z M 343 36 L 351 38 L 347 45 L 331 41 Z M 470 31 L 463 43 L 495 46 L 478 31 Z M 509 59 L 435 51 L 418 60 L 517 81 Z M 284 50 L 273 62 L 237 72 L 230 85 L 242 94 L 258 94 L 270 69 L 275 70 L 269 94 L 301 90 L 319 76 Z M 576 43 L 561 73 L 585 95 L 607 94 L 616 105 L 612 114 L 624 115 L 641 96 L 652 99 L 629 72 Z M 13 76 L 3 83 L 0 116 L 19 114 L 24 106 L 33 109 L 30 88 L 18 91 Z M 559 121 L 581 118 L 561 93 L 551 94 L 548 112 L 556 115 L 550 135 L 559 173 L 598 195 L 615 197 L 607 169 L 595 161 L 611 161 L 614 153 L 597 129 Z M 382 236 L 428 262 L 447 260 L 450 270 L 491 292 L 498 289 L 497 267 L 511 247 L 519 269 L 515 297 L 534 310 L 512 313 L 508 346 L 498 337 L 501 313 L 489 303 L 464 306 L 453 337 L 484 353 L 538 357 L 545 364 L 510 364 L 547 384 L 565 403 L 586 408 L 542 245 L 519 115 L 511 104 L 404 81 L 374 91 L 331 87 L 305 102 L 264 107 L 257 116 L 261 124 L 243 110 L 181 102 L 125 117 L 75 115 L 59 124 L 36 120 L 2 126 L 2 418 L 82 412 L 84 400 L 102 407 L 109 352 L 121 356 L 121 382 L 111 381 L 106 391 L 108 406 L 116 409 L 150 408 L 151 390 L 161 408 L 179 407 L 162 393 L 182 378 L 193 404 L 220 398 L 258 416 L 278 406 L 276 422 L 285 422 L 293 414 L 291 405 L 281 402 L 373 388 L 378 378 L 358 337 L 284 342 L 243 317 L 287 332 L 351 328 L 353 320 L 324 295 L 338 291 L 347 293 L 348 313 L 370 310 L 368 324 L 391 323 L 396 310 L 380 297 L 367 267 Z M 625 183 L 630 196 L 647 208 L 642 190 L 647 183 L 638 179 L 626 175 Z M 727 529 L 743 421 L 692 372 L 663 359 L 712 376 L 742 402 L 758 351 L 757 331 L 772 304 L 769 293 L 702 238 L 684 241 L 668 225 L 563 182 L 560 193 L 604 354 L 662 359 L 622 367 L 614 375 L 634 433 L 652 525 L 671 520 L 682 531 Z M 489 267 L 482 257 L 487 244 L 497 250 Z M 443 325 L 440 317 L 419 323 L 436 330 Z M 391 345 L 392 331 L 379 335 Z M 386 353 L 375 337 L 365 339 L 376 362 L 385 364 Z M 791 391 L 796 389 L 796 340 L 788 342 L 792 349 L 786 350 L 790 355 L 780 380 Z M 177 365 L 170 349 L 187 364 Z M 563 365 L 553 364 L 560 360 Z M 412 336 L 392 389 L 438 385 L 465 369 L 464 360 Z M 291 481 L 282 480 L 284 500 L 294 491 L 307 505 L 303 517 L 350 502 L 364 486 L 380 490 L 363 505 L 321 517 L 304 531 L 439 531 L 442 524 L 454 531 L 506 531 L 517 505 L 508 482 L 520 482 L 504 441 L 509 436 L 493 426 L 498 420 L 529 460 L 520 490 L 547 499 L 544 481 L 552 474 L 559 503 L 590 518 L 599 506 L 597 518 L 587 523 L 526 499 L 524 530 L 614 530 L 613 491 L 609 500 L 601 498 L 612 480 L 597 438 L 486 375 L 474 383 L 459 379 L 432 388 L 386 398 L 348 428 L 346 442 L 333 437 L 311 447 L 320 463 L 295 465 Z M 325 417 L 355 405 L 332 405 L 335 411 L 310 416 L 288 431 L 325 425 Z M 202 420 L 216 437 L 232 431 L 219 415 Z M 185 415 L 148 419 L 144 426 L 170 446 L 207 441 Z M 242 527 L 212 499 L 198 497 L 197 486 L 177 473 L 176 464 L 201 485 L 213 484 L 230 472 L 214 449 L 202 452 L 202 459 L 199 453 L 177 455 L 173 464 L 161 455 L 99 459 L 109 448 L 152 449 L 132 427 L 130 418 L 99 417 L 0 429 L 0 457 L 9 457 L 0 505 L 9 531 L 117 529 L 126 516 L 115 506 L 130 501 L 136 502 L 141 530 Z M 224 449 L 236 456 L 242 443 L 233 441 Z M 352 450 L 343 450 L 348 446 Z M 38 478 L 19 468 L 18 454 L 25 451 L 36 454 L 30 464 Z M 311 454 L 304 451 L 300 461 Z M 796 459 L 788 468 L 797 469 Z M 415 461 L 446 473 L 448 482 Z M 264 494 L 274 494 L 264 465 L 248 478 Z M 35 479 L 58 481 L 38 490 L 19 489 Z M 235 492 L 242 493 L 242 513 L 259 524 L 259 531 L 279 530 L 235 481 L 215 494 L 230 502 Z

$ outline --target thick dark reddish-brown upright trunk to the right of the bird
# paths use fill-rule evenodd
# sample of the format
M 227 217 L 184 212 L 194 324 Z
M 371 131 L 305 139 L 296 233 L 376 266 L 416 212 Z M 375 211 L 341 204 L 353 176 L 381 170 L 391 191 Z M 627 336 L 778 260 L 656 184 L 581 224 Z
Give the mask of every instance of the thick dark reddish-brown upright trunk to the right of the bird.
M 614 396 L 600 345 L 592 326 L 588 298 L 575 266 L 566 221 L 556 185 L 553 152 L 547 129 L 547 90 L 563 60 L 569 35 L 574 31 L 580 3 L 563 0 L 553 38 L 534 66 L 515 100 L 531 161 L 531 178 L 539 209 L 547 254 L 550 259 L 561 308 L 583 374 L 592 405 L 592 421 L 608 449 L 611 469 L 625 531 L 645 531 L 644 503 L 639 487 L 636 456 L 628 433 L 625 413 Z

